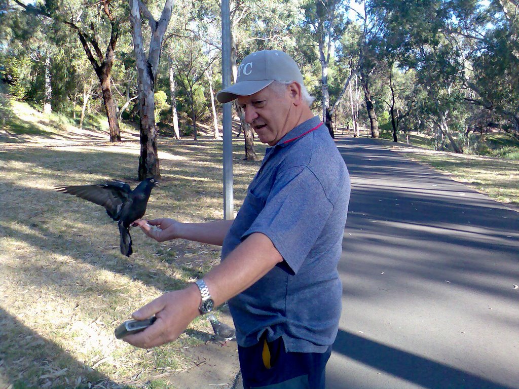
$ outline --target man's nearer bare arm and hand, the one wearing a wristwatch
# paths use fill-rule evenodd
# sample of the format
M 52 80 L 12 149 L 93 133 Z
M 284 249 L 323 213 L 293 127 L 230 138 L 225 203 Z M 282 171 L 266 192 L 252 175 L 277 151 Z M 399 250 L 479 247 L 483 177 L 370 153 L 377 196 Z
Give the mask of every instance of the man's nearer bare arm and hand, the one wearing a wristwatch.
M 259 232 L 251 234 L 203 280 L 209 287 L 215 305 L 220 305 L 260 280 L 283 258 L 270 239 Z M 201 296 L 195 284 L 166 293 L 133 313 L 143 320 L 155 315 L 157 320 L 143 332 L 124 338 L 140 348 L 152 348 L 172 342 L 200 312 Z

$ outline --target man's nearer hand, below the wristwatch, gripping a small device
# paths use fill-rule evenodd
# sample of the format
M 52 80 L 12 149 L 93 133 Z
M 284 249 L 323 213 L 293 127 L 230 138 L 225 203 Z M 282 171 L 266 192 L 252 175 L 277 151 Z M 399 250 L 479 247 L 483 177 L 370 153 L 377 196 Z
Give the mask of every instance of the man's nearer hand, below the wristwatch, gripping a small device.
M 174 341 L 200 314 L 200 300 L 200 291 L 195 284 L 160 296 L 132 314 L 135 320 L 144 320 L 155 315 L 155 323 L 122 340 L 142 349 Z

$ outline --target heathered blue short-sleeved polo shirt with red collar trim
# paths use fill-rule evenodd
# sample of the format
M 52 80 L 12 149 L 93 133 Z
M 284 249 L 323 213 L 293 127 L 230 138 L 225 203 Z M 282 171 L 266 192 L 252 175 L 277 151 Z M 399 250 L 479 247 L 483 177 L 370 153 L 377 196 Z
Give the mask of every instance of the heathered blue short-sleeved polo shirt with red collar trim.
M 337 335 L 342 284 L 337 262 L 350 179 L 327 128 L 307 120 L 267 149 L 223 246 L 222 260 L 254 232 L 283 261 L 229 300 L 238 344 L 283 337 L 287 352 L 324 352 Z

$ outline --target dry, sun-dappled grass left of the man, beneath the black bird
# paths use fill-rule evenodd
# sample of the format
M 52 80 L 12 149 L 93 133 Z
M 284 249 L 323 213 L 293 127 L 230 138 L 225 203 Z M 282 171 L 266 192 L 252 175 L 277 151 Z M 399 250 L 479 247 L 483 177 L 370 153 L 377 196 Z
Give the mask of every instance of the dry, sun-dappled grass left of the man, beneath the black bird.
M 135 186 L 138 134 L 124 126 L 126 141 L 113 144 L 100 130 L 79 132 L 65 118 L 13 109 L 17 117 L 0 131 L 0 387 L 171 387 L 157 374 L 193 366 L 185 351 L 205 341 L 199 334 L 212 332 L 209 322 L 198 318 L 179 340 L 149 351 L 116 340 L 114 328 L 207 272 L 220 248 L 158 243 L 133 229 L 135 254 L 122 256 L 102 207 L 53 188 L 110 178 Z M 235 209 L 260 164 L 241 159 L 242 142 L 235 142 Z M 218 141 L 161 138 L 161 186 L 146 217 L 222 218 L 221 151 Z

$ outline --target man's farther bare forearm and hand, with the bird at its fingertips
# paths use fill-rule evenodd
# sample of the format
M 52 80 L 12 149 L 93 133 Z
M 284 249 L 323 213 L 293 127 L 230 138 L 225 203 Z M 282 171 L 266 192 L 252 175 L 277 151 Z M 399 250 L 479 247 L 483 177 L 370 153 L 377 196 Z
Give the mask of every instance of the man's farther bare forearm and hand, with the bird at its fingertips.
M 207 223 L 180 223 L 174 219 L 135 220 L 134 225 L 148 237 L 158 242 L 187 239 L 221 246 L 233 220 L 216 220 Z M 158 227 L 158 228 L 154 228 Z

